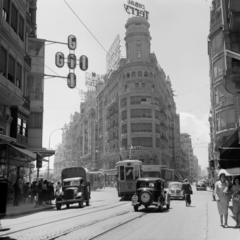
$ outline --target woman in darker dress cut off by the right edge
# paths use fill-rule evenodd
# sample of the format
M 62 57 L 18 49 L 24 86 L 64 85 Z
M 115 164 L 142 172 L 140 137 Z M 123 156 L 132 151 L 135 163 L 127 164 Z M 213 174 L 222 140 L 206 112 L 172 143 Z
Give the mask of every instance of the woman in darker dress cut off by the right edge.
M 239 177 L 234 178 L 233 186 L 230 192 L 232 194 L 233 215 L 236 221 L 235 227 L 240 227 L 240 179 Z

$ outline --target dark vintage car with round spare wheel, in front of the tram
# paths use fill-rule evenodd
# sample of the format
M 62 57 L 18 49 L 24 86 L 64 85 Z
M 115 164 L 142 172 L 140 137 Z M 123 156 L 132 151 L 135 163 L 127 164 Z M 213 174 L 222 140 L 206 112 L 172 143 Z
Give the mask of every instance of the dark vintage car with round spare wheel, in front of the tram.
M 145 177 L 136 181 L 136 192 L 132 196 L 134 211 L 143 205 L 145 208 L 154 205 L 161 212 L 163 207 L 170 207 L 170 196 L 164 189 L 165 180 L 161 178 Z

